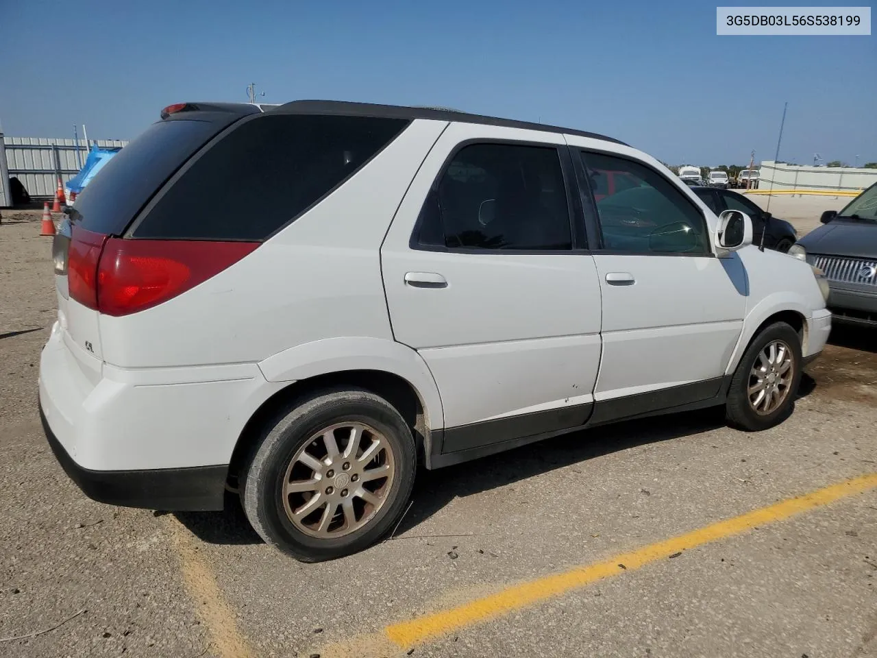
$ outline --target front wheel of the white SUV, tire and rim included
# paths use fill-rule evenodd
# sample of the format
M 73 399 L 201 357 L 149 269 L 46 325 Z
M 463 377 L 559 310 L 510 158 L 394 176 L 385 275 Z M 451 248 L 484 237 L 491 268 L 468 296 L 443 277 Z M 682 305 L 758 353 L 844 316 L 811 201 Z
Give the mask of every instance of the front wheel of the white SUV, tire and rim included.
M 726 413 L 733 426 L 766 430 L 788 418 L 801 383 L 801 338 L 775 322 L 752 340 L 731 378 Z

